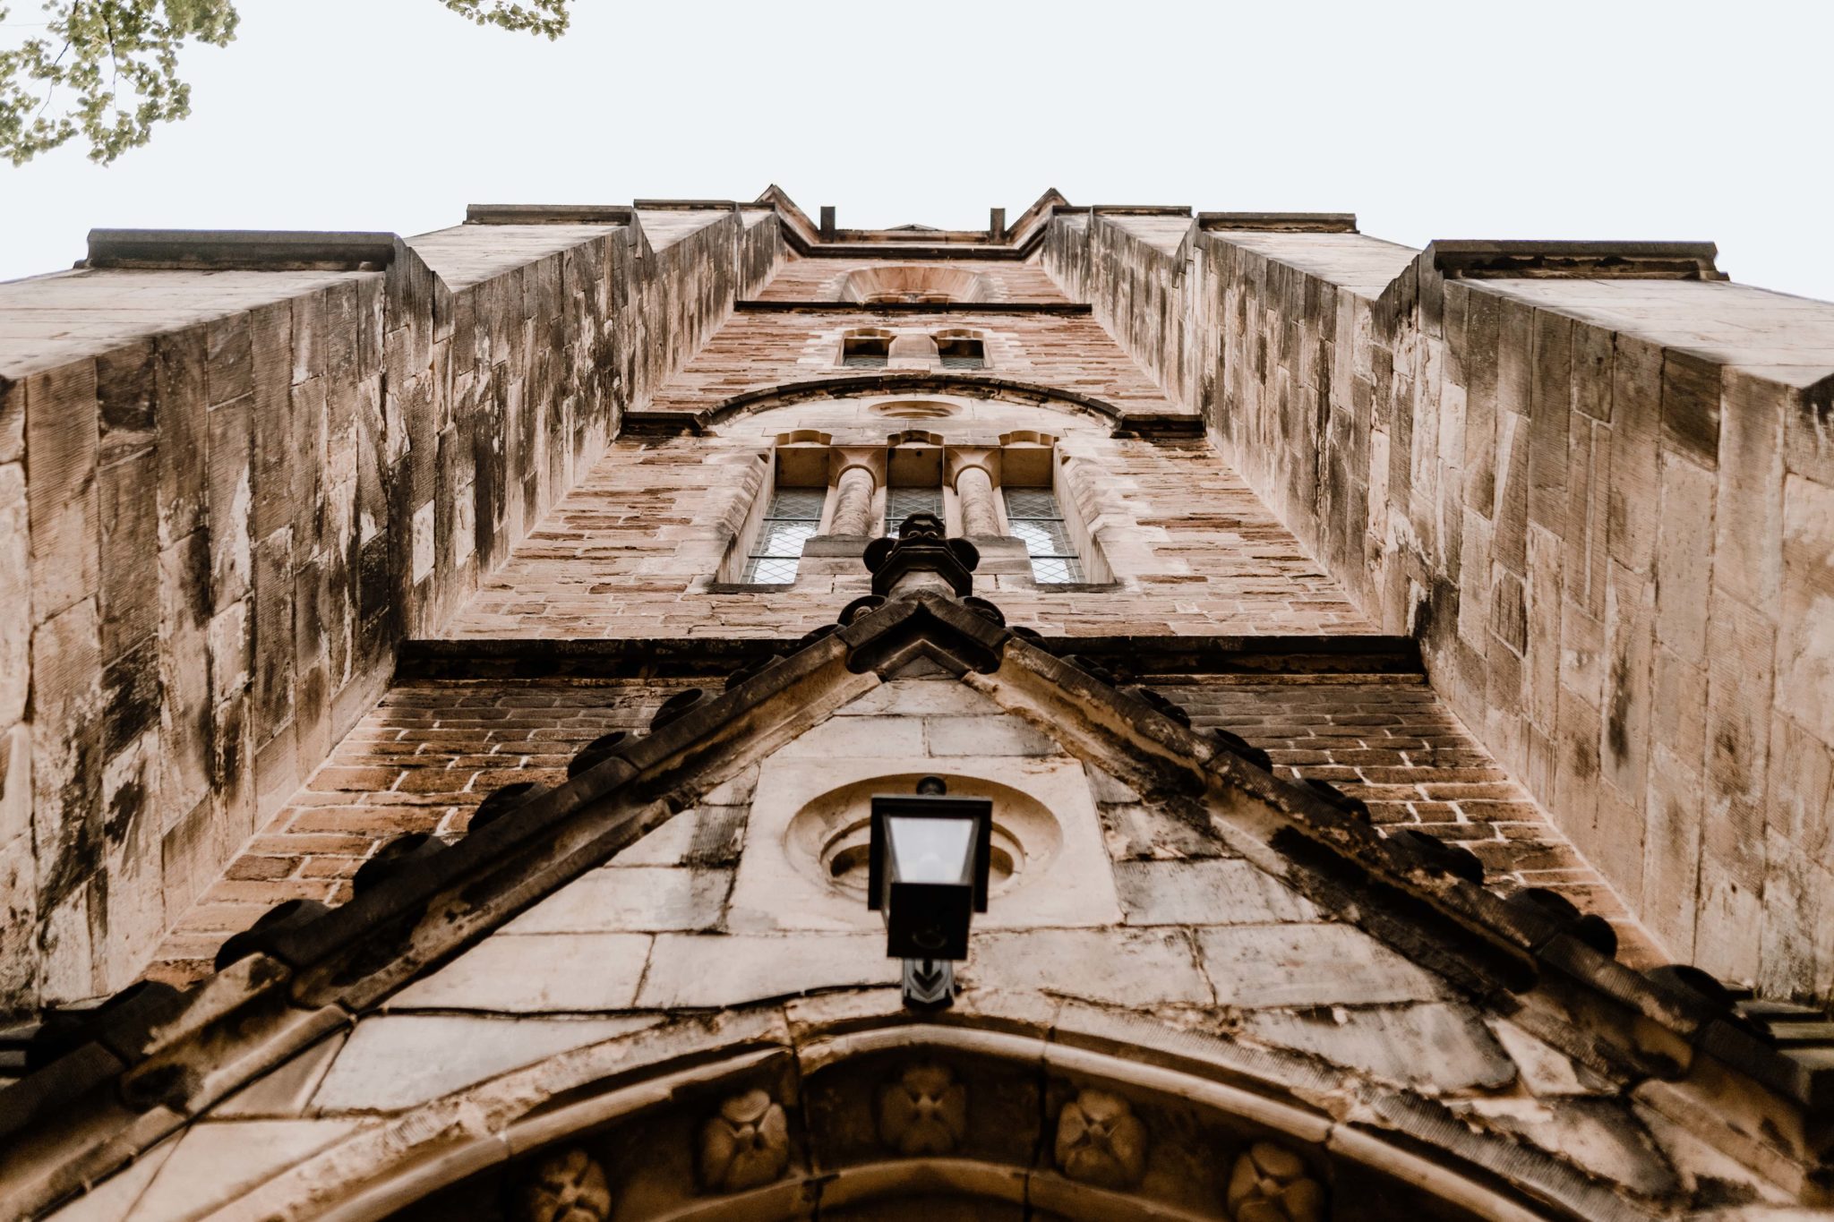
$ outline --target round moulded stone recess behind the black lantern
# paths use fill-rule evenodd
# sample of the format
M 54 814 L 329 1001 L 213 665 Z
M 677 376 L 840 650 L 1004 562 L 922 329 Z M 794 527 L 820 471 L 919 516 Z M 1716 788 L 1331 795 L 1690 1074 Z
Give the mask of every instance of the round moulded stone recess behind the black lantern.
M 923 775 L 873 777 L 803 804 L 783 834 L 789 859 L 825 887 L 864 898 L 873 795 L 915 793 Z M 1064 834 L 1044 802 L 998 780 L 948 773 L 943 779 L 950 797 L 987 797 L 994 802 L 990 894 L 1025 887 L 1056 856 Z

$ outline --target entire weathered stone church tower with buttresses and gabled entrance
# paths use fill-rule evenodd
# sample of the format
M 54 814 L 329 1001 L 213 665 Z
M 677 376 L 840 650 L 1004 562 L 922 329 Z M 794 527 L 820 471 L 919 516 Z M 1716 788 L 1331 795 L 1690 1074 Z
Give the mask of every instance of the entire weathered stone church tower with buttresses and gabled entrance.
M 1828 1217 L 1830 421 L 1711 245 L 95 231 L 0 1217 Z

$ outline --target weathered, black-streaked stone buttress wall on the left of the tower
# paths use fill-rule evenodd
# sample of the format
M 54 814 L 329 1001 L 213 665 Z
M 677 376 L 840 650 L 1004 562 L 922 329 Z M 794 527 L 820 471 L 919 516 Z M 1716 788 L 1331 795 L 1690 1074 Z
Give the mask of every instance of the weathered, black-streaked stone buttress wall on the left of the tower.
M 132 980 L 778 258 L 657 229 L 0 286 L 0 1011 Z

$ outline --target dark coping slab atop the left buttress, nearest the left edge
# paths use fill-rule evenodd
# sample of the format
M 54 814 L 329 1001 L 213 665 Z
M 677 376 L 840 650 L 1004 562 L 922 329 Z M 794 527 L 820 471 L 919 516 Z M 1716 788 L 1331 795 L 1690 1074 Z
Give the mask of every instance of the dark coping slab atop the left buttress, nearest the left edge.
M 381 271 L 392 233 L 304 229 L 90 229 L 90 267 L 235 271 Z

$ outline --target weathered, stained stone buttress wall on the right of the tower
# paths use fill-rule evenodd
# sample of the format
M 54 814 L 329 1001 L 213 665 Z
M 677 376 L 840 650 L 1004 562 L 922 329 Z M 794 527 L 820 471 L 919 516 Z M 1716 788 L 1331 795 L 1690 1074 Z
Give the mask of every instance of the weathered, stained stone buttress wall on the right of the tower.
M 1053 275 L 1663 949 L 1834 995 L 1834 306 L 1073 220 Z

